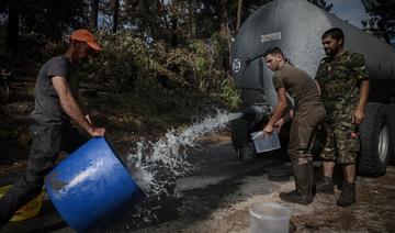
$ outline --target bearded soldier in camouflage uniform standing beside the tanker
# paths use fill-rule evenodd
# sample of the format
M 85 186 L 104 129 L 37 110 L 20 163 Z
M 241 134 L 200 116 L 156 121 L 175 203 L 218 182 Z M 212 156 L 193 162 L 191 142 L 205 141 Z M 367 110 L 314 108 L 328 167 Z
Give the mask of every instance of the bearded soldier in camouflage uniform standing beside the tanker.
M 334 167 L 342 165 L 345 182 L 337 204 L 348 207 L 356 202 L 356 158 L 360 151 L 358 125 L 364 119 L 369 93 L 368 70 L 361 54 L 343 48 L 345 36 L 340 29 L 325 32 L 321 42 L 327 57 L 316 74 L 321 98 L 327 110 L 325 132 L 324 178 L 316 184 L 317 192 L 334 192 Z

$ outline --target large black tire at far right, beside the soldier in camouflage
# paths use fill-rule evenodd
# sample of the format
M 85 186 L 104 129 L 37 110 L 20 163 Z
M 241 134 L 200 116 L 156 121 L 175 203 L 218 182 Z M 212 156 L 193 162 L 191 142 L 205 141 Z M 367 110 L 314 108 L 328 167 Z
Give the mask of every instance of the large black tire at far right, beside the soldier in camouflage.
M 380 158 L 379 135 L 386 127 L 388 140 L 391 140 L 391 120 L 387 107 L 373 102 L 366 104 L 365 119 L 360 125 L 361 153 L 358 162 L 358 173 L 360 175 L 377 177 L 386 171 L 391 157 L 391 145 L 388 145 L 387 152 L 383 153 L 382 158 Z

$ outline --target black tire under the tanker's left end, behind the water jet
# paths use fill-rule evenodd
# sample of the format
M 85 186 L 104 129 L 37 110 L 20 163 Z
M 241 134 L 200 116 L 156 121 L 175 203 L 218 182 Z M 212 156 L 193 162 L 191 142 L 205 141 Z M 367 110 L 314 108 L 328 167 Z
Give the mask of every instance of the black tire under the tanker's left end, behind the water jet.
M 241 162 L 250 163 L 256 157 L 256 149 L 249 132 L 250 123 L 244 119 L 232 122 L 232 143 Z

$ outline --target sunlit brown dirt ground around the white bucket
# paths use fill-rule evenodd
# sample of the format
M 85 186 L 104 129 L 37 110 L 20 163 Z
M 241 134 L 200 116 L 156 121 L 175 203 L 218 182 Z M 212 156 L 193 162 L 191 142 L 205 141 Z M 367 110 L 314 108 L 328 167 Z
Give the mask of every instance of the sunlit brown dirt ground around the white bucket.
M 279 202 L 290 208 L 296 232 L 395 232 L 395 168 L 379 178 L 358 177 L 357 203 L 336 206 L 335 195 L 318 193 L 309 206 L 286 203 L 279 199 L 280 191 L 294 188 L 293 180 L 274 182 L 267 175 L 245 177 L 237 181 L 238 190 L 227 195 L 219 208 L 203 220 L 188 218 L 162 223 L 137 232 L 249 232 L 249 207 L 253 202 Z M 235 184 L 236 185 L 236 184 Z M 198 210 L 199 202 L 183 207 Z M 210 207 L 206 207 L 210 208 Z

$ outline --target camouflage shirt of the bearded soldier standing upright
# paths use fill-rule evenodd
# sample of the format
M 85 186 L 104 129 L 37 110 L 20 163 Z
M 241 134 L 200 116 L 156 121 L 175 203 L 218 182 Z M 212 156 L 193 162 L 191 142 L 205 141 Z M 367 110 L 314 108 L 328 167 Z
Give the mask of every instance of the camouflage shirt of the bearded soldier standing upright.
M 363 55 L 345 52 L 335 58 L 325 57 L 319 63 L 315 79 L 321 88 L 326 120 L 351 121 L 360 96 L 360 85 L 368 79 Z

